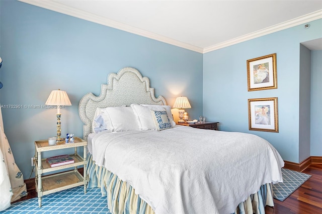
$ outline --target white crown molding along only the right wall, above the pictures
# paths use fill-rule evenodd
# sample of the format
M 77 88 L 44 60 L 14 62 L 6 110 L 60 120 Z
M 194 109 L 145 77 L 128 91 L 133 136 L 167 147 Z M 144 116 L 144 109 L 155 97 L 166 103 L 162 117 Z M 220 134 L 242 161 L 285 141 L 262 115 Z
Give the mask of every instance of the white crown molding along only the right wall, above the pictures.
M 321 18 L 322 18 L 322 10 L 315 11 L 313 13 L 310 13 L 310 14 L 280 23 L 278 25 L 274 25 L 274 26 L 250 33 L 250 34 L 246 34 L 241 37 L 234 38 L 232 40 L 225 41 L 223 43 L 219 43 L 214 46 L 204 48 L 203 54 L 211 52 L 211 51 L 215 51 L 215 50 L 218 50 L 221 48 L 225 48 L 225 47 L 228 47 L 231 45 L 235 45 L 237 43 L 245 42 L 245 41 L 252 40 L 252 39 L 255 39 L 258 37 L 262 37 L 262 36 L 265 36 L 265 35 L 268 35 L 271 33 L 275 33 L 275 32 L 281 31 L 281 30 L 285 30 L 287 28 L 291 28 L 291 27 L 294 27 L 297 25 L 301 25 L 301 24 L 308 23 L 308 22 L 311 22 L 314 20 L 318 20 Z

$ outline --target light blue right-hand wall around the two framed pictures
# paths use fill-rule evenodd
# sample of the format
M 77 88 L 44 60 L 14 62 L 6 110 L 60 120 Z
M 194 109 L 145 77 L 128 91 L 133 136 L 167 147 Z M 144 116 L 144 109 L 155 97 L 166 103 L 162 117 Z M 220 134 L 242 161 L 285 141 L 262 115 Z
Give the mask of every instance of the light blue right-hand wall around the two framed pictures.
M 220 130 L 259 135 L 272 143 L 284 160 L 302 161 L 299 160 L 300 43 L 322 38 L 321 26 L 320 19 L 310 22 L 309 29 L 299 25 L 204 54 L 203 114 L 219 121 Z M 277 54 L 278 88 L 248 92 L 246 61 L 273 53 Z M 322 91 L 320 85 L 313 90 L 319 94 Z M 279 133 L 249 130 L 248 99 L 266 97 L 278 97 Z

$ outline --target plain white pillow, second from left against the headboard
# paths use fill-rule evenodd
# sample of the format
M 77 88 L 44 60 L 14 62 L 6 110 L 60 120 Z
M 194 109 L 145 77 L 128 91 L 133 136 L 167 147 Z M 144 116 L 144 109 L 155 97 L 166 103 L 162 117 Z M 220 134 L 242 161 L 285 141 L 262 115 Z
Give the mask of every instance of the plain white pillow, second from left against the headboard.
M 112 131 L 130 131 L 139 130 L 139 125 L 131 107 L 107 107 L 107 112 L 113 126 Z

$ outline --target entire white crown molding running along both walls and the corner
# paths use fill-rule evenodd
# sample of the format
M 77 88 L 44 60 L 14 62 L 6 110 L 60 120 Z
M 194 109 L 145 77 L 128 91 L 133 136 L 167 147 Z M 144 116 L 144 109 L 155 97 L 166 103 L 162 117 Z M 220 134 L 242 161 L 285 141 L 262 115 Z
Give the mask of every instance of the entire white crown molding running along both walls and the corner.
M 118 29 L 118 30 L 126 31 L 126 32 L 129 32 L 129 33 L 132 33 L 132 34 L 136 34 L 136 35 L 139 35 L 139 36 L 143 36 L 143 37 L 146 37 L 146 38 L 149 38 L 149 39 L 164 42 L 164 43 L 167 43 L 167 44 L 170 44 L 170 45 L 178 46 L 178 47 L 188 49 L 188 50 L 191 50 L 191 51 L 195 51 L 195 52 L 198 52 L 198 53 L 202 53 L 202 54 L 208 53 L 208 52 L 211 52 L 211 51 L 215 51 L 215 50 L 218 50 L 218 49 L 221 49 L 221 48 L 225 48 L 225 47 L 228 47 L 228 46 L 231 46 L 231 45 L 235 45 L 237 43 L 252 40 L 252 39 L 262 37 L 262 36 L 265 36 L 265 35 L 268 35 L 268 34 L 271 34 L 271 33 L 275 33 L 277 31 L 281 31 L 281 30 L 284 30 L 284 29 L 287 29 L 287 28 L 291 28 L 291 27 L 294 27 L 294 26 L 297 26 L 297 25 L 301 25 L 301 24 L 304 24 L 304 23 L 307 23 L 307 22 L 314 21 L 314 20 L 322 18 L 322 10 L 319 10 L 319 11 L 316 11 L 316 12 L 313 12 L 313 13 L 310 13 L 310 14 L 307 14 L 307 15 L 304 15 L 304 16 L 301 16 L 301 17 L 298 17 L 298 18 L 283 22 L 283 23 L 278 24 L 278 25 L 274 25 L 274 26 L 271 26 L 271 27 L 268 27 L 268 28 L 265 28 L 265 29 L 262 29 L 262 30 L 259 30 L 259 31 L 256 31 L 256 32 L 253 32 L 253 33 L 250 33 L 250 34 L 247 34 L 247 35 L 244 35 L 244 36 L 241 36 L 241 37 L 237 37 L 237 38 L 234 38 L 234 39 L 231 39 L 231 40 L 228 40 L 228 41 L 225 41 L 225 42 L 213 45 L 213 46 L 209 46 L 207 48 L 201 48 L 201 47 L 197 47 L 197 46 L 194 46 L 194 45 L 183 43 L 183 42 L 180 42 L 178 40 L 174 40 L 174 39 L 171 39 L 171 38 L 168 38 L 168 37 L 160 36 L 158 34 L 154 34 L 154 33 L 139 29 L 139 28 L 135 28 L 135 27 L 132 27 L 132 26 L 129 26 L 129 25 L 125 25 L 125 24 L 122 24 L 122 23 L 119 23 L 119 22 L 116 22 L 116 21 L 113 21 L 113 20 L 110 20 L 110 19 L 107 19 L 107 18 L 103 18 L 101 16 L 98 16 L 98 15 L 95 15 L 95 14 L 92 14 L 92 13 L 88 13 L 88 12 L 85 12 L 85 11 L 82 11 L 82 10 L 74 9 L 74 8 L 65 6 L 63 4 L 57 3 L 55 1 L 51 1 L 51 0 L 46 0 L 46 1 L 41 1 L 41 0 L 18 0 L 18 1 L 30 4 L 30 5 L 38 6 L 38 7 L 41 7 L 41 8 L 45 8 L 45 9 L 48 9 L 48 10 L 51 10 L 51 11 L 55 11 L 55 12 L 58 12 L 58 13 L 61 13 L 61 14 L 66 14 L 66 15 L 76 17 L 76 18 L 79 18 L 79 19 L 83 19 L 83 20 L 87 20 L 87 21 L 90 21 L 90 22 L 98 23 L 98 24 L 108 26 L 108 27 L 111 27 L 111 28 L 115 28 L 115 29 Z

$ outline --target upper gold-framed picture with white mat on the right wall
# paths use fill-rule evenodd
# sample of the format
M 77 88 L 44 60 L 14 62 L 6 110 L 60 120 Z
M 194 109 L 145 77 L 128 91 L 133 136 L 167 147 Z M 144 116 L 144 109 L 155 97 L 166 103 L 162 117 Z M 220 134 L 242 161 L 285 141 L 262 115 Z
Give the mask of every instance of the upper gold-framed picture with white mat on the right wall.
M 276 54 L 247 60 L 248 91 L 277 88 Z

